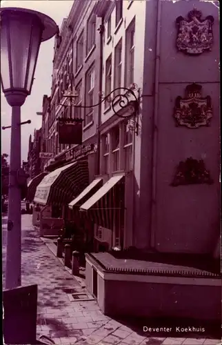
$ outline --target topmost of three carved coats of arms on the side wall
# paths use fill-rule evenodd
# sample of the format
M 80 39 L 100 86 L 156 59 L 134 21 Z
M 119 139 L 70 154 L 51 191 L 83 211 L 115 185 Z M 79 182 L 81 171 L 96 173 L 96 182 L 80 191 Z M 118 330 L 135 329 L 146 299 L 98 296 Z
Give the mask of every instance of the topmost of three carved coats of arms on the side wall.
M 212 25 L 214 17 L 201 19 L 202 12 L 194 8 L 188 13 L 188 19 L 178 17 L 176 25 L 178 32 L 176 46 L 182 52 L 199 55 L 205 50 L 211 50 L 213 44 Z

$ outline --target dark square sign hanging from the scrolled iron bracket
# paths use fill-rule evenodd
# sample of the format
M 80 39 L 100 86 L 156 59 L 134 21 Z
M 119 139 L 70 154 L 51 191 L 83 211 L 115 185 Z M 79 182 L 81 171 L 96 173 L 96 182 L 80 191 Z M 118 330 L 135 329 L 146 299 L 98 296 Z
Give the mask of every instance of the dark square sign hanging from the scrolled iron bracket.
M 66 121 L 65 121 L 66 120 Z M 59 144 L 81 144 L 82 143 L 82 122 L 71 121 L 70 119 L 59 119 L 58 123 Z

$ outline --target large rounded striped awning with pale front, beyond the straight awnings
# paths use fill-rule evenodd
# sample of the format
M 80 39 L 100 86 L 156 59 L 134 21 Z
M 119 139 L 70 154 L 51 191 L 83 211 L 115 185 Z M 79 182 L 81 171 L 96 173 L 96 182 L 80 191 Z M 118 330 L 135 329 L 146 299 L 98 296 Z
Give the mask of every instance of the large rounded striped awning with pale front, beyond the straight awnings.
M 88 185 L 88 160 L 75 161 L 43 178 L 34 195 L 42 205 L 69 204 Z

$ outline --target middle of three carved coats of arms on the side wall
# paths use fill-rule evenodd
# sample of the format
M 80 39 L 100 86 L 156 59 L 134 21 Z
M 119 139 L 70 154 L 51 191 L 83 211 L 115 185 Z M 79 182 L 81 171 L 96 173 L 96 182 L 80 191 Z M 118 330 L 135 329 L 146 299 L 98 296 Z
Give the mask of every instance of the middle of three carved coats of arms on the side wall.
M 212 118 L 210 96 L 201 97 L 202 86 L 192 83 L 185 88 L 185 98 L 176 97 L 174 119 L 176 126 L 199 128 L 209 126 Z

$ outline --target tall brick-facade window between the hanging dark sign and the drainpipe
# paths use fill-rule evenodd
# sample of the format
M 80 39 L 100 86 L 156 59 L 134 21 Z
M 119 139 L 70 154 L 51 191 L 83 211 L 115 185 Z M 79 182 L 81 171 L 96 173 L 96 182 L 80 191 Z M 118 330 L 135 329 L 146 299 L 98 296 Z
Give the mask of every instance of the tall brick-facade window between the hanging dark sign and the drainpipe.
M 85 78 L 85 103 L 86 106 L 93 105 L 93 91 L 94 91 L 94 69 L 90 68 L 90 70 L 86 73 Z M 92 122 L 93 119 L 93 109 L 85 108 L 85 121 L 84 124 L 87 126 Z

